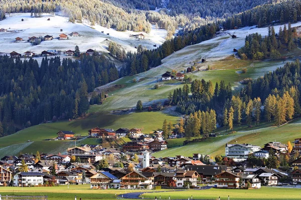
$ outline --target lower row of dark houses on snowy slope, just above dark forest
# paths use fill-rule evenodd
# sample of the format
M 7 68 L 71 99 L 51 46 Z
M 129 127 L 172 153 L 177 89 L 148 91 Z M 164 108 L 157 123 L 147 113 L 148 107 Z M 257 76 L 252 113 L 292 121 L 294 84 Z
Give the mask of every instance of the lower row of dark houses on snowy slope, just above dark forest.
M 88 49 L 86 51 L 87 55 L 93 55 L 93 53 L 94 53 L 93 49 Z M 34 53 L 32 51 L 26 51 L 26 52 L 24 52 L 23 55 L 25 57 L 33 57 L 33 56 L 52 56 L 52 55 L 58 55 L 58 54 L 59 54 L 59 51 L 57 51 L 57 50 L 43 50 L 40 54 Z M 64 51 L 64 54 L 72 56 L 72 55 L 74 55 L 74 50 L 70 50 L 70 49 L 66 50 L 66 51 Z M 16 51 L 12 51 L 12 52 L 10 52 L 10 56 L 11 57 L 21 57 L 22 54 L 18 53 Z

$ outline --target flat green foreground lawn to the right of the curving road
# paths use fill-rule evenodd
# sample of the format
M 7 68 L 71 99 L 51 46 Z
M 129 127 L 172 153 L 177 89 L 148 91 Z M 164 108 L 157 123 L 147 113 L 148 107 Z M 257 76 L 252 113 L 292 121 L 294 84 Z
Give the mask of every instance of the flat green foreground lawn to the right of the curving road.
M 159 199 L 188 199 L 193 196 L 193 199 L 218 199 L 220 196 L 221 200 L 228 199 L 230 195 L 231 200 L 244 200 L 244 199 L 300 199 L 301 189 L 300 188 L 279 188 L 279 187 L 262 187 L 260 189 L 205 189 L 205 190 L 186 190 L 186 191 L 170 191 L 170 192 L 159 192 L 159 193 L 145 193 L 144 198 L 155 199 L 155 196 Z

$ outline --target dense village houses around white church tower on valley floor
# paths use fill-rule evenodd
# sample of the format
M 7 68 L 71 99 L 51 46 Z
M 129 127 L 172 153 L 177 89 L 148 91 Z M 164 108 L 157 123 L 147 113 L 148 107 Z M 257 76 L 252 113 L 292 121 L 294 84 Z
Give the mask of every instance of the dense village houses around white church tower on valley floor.
M 260 188 L 261 185 L 276 185 L 288 174 L 274 168 L 229 167 L 226 165 L 204 164 L 201 155 L 192 157 L 156 158 L 144 150 L 138 154 L 138 161 L 128 161 L 131 155 L 125 154 L 127 161 L 121 161 L 122 152 L 104 149 L 100 145 L 83 144 L 68 149 L 67 155 L 47 155 L 42 153 L 41 160 L 35 162 L 35 155 L 23 154 L 5 156 L 0 160 L 0 185 L 35 186 L 45 182 L 54 184 L 90 184 L 91 188 L 145 188 L 156 185 L 163 188 L 198 187 L 199 183 L 213 183 L 217 188 Z M 87 152 L 94 152 L 94 159 Z M 102 152 L 101 154 L 98 154 Z M 108 167 L 99 168 L 104 156 L 114 157 L 108 160 Z M 84 156 L 86 155 L 86 157 Z M 124 155 L 124 154 L 123 154 Z M 80 162 L 70 162 L 76 156 Z M 78 159 L 78 158 L 77 158 Z M 19 172 L 22 160 L 28 166 L 27 172 Z M 121 162 L 123 167 L 115 167 Z M 130 165 L 132 168 L 130 168 Z M 51 174 L 55 171 L 55 174 Z M 291 175 L 301 181 L 301 170 L 294 170 Z M 12 178 L 13 177 L 13 178 Z

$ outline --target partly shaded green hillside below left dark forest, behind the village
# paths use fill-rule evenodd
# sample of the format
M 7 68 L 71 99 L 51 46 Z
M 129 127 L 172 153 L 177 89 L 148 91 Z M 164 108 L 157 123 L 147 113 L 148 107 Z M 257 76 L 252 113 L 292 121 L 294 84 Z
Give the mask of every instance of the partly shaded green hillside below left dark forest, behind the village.
M 72 130 L 75 133 L 88 135 L 88 130 L 99 126 L 104 128 L 117 129 L 119 127 L 138 127 L 145 133 L 153 132 L 162 127 L 164 119 L 177 123 L 178 116 L 173 116 L 162 111 L 151 112 L 132 112 L 129 114 L 116 115 L 108 112 L 92 114 L 87 118 L 76 119 L 73 121 L 61 121 L 55 123 L 42 123 L 21 130 L 15 134 L 1 137 L 0 155 L 7 153 L 18 154 L 22 152 L 58 153 L 74 145 L 74 141 L 48 141 L 45 139 L 55 138 L 59 130 Z M 126 142 L 126 138 L 123 139 Z M 84 139 L 77 141 L 77 144 L 99 143 L 97 139 Z M 122 143 L 120 143 L 122 144 Z M 118 145 L 112 143 L 111 145 Z

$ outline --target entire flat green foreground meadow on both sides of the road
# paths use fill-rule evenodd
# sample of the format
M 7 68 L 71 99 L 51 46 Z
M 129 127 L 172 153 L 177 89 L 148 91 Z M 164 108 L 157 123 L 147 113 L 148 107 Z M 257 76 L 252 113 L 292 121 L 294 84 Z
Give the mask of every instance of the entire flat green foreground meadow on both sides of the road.
M 300 188 L 279 188 L 279 187 L 262 187 L 260 189 L 205 189 L 205 190 L 185 190 L 185 191 L 171 191 L 162 189 L 162 192 L 155 192 L 154 190 L 124 190 L 124 189 L 90 189 L 89 184 L 85 185 L 60 185 L 55 187 L 0 187 L 0 194 L 4 195 L 48 195 L 50 200 L 71 200 L 74 196 L 77 199 L 94 200 L 94 199 L 117 199 L 115 196 L 128 192 L 149 192 L 142 194 L 144 198 L 155 199 L 188 199 L 193 196 L 193 199 L 228 199 L 228 195 L 232 200 L 244 199 L 300 199 Z M 157 190 L 156 190 L 157 191 Z M 160 191 L 160 190 L 159 190 Z

